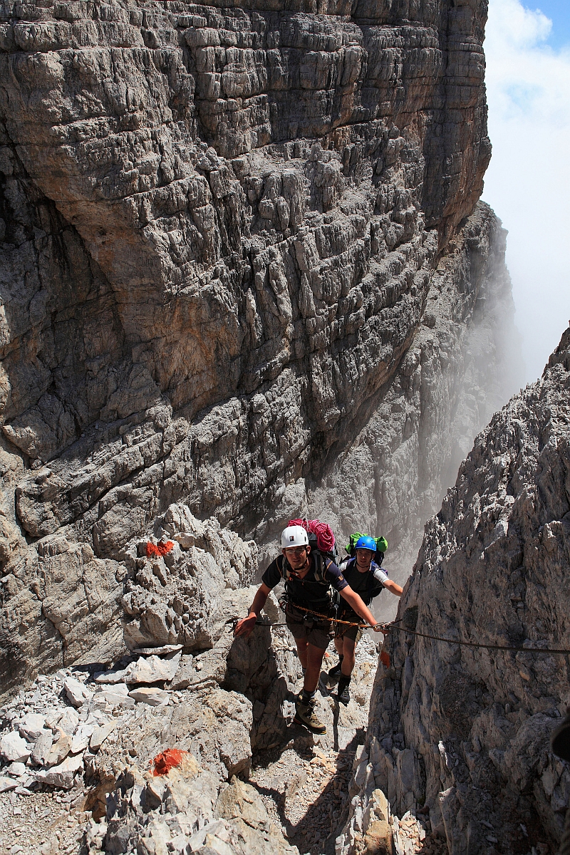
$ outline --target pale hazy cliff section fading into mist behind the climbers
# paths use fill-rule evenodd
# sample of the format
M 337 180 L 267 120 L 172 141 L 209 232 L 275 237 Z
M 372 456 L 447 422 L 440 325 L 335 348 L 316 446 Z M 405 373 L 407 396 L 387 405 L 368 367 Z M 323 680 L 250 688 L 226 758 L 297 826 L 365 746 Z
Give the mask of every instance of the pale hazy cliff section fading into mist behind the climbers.
M 520 345 L 505 236 L 479 203 L 438 263 L 422 324 L 373 415 L 348 449 L 336 446 L 318 486 L 299 481 L 289 488 L 279 524 L 287 514 L 325 519 L 341 555 L 350 532 L 384 534 L 385 569 L 405 583 L 426 519 L 455 481 L 474 436 L 517 386 Z M 274 532 L 274 513 L 267 522 Z M 265 534 L 265 526 L 257 531 Z M 396 608 L 387 595 L 375 604 L 379 619 Z

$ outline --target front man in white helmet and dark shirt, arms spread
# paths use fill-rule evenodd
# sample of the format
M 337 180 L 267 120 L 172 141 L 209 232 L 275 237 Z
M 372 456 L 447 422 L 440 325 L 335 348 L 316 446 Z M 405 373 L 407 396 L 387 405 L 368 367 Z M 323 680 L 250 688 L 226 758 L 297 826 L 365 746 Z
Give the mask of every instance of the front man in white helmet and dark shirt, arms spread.
M 281 534 L 281 553 L 261 576 L 261 586 L 251 604 L 250 614 L 238 621 L 234 634 L 246 638 L 250 635 L 269 592 L 281 579 L 285 579 L 285 620 L 297 643 L 297 653 L 305 675 L 303 692 L 297 698 L 295 721 L 304 724 L 315 734 L 325 734 L 326 727 L 314 712 L 314 695 L 320 665 L 332 638 L 331 589 L 338 591 L 344 601 L 373 629 L 379 631 L 380 627 L 337 565 L 319 551 L 311 552 L 307 532 L 302 526 L 288 526 L 284 529 Z M 317 612 L 319 616 L 311 612 Z

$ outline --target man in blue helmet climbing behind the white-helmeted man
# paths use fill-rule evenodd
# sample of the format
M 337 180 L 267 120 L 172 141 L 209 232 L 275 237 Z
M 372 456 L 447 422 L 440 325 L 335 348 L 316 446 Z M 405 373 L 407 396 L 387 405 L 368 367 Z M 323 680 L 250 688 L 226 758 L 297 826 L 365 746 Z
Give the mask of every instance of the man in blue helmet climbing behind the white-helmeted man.
M 367 605 L 374 597 L 378 597 L 384 588 L 397 597 L 402 596 L 402 588 L 391 581 L 388 574 L 373 561 L 376 549 L 377 544 L 373 537 L 364 535 L 356 541 L 355 556 L 341 564 L 344 578 Z M 341 602 L 337 617 L 341 621 L 361 622 L 356 611 L 344 601 Z M 346 623 L 337 624 L 334 646 L 338 653 L 338 664 L 328 672 L 327 677 L 330 683 L 338 681 L 337 697 L 342 704 L 348 704 L 350 701 L 350 676 L 355 667 L 356 645 L 361 634 L 362 630 L 357 626 L 347 626 Z

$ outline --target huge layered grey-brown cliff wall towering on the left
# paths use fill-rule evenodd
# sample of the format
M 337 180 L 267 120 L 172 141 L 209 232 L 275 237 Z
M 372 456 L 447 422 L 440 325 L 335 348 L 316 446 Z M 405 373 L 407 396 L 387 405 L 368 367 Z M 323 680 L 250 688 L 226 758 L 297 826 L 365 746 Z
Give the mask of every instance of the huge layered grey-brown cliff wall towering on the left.
M 421 516 L 414 466 L 432 510 L 434 437 L 452 448 L 473 433 L 469 408 L 485 410 L 450 380 L 471 376 L 459 332 L 501 254 L 494 215 L 475 209 L 484 25 L 479 0 L 3 3 L 7 690 L 115 657 L 143 536 L 187 548 L 188 573 L 208 552 L 211 598 L 220 569 L 233 585 L 246 556 L 220 565 L 204 521 L 249 535 L 262 520 L 272 540 L 291 493 L 310 493 L 385 399 L 397 415 L 387 443 L 371 428 L 376 492 L 397 498 L 381 521 L 403 540 L 405 507 Z M 398 403 L 404 388 L 421 406 Z M 344 494 L 343 513 L 361 499 Z M 150 630 L 162 582 L 139 571 L 132 628 L 172 643 L 184 632 L 166 610 Z

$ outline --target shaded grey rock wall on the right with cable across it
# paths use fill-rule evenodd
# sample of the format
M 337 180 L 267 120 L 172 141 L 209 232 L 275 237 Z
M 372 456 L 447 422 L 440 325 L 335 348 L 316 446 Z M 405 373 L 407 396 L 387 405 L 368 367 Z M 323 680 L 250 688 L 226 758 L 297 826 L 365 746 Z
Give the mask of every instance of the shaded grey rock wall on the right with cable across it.
M 421 804 L 452 855 L 556 851 L 570 800 L 549 735 L 570 703 L 570 330 L 537 383 L 479 434 L 426 534 L 393 632 L 368 745 L 402 816 Z M 455 640 L 514 646 L 508 652 Z M 469 842 L 470 841 L 470 842 Z M 470 848 L 469 848 L 470 847 Z M 347 850 L 349 851 L 349 850 Z

